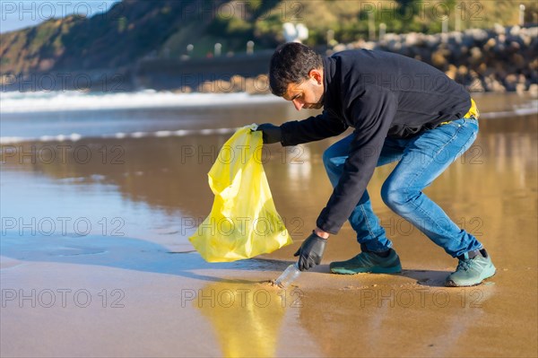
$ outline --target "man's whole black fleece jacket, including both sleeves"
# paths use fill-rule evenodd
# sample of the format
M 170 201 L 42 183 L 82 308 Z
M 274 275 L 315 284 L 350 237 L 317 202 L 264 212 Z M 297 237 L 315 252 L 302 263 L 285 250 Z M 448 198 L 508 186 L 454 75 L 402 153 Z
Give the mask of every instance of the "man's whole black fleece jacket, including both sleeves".
M 335 234 L 359 203 L 385 138 L 407 138 L 463 118 L 471 108 L 464 88 L 421 61 L 376 50 L 348 50 L 324 58 L 324 111 L 282 124 L 282 145 L 342 134 L 353 127 L 343 175 L 317 227 Z

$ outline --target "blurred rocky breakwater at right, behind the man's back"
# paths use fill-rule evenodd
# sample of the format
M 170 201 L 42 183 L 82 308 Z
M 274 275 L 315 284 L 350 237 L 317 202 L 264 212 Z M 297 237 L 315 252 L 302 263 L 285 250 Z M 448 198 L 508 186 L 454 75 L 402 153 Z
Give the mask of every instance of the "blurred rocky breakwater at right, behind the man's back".
M 338 44 L 328 53 L 369 48 L 417 58 L 444 71 L 470 92 L 538 94 L 538 27 L 495 26 L 434 35 L 387 33 L 378 41 Z

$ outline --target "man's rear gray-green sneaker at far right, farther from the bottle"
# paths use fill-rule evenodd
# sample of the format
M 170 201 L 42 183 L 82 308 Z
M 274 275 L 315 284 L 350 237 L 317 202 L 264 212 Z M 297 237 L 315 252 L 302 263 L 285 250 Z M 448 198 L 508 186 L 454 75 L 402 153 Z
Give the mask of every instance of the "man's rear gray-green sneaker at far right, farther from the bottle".
M 495 266 L 486 249 L 465 252 L 459 256 L 456 271 L 448 275 L 448 287 L 474 286 L 495 275 Z

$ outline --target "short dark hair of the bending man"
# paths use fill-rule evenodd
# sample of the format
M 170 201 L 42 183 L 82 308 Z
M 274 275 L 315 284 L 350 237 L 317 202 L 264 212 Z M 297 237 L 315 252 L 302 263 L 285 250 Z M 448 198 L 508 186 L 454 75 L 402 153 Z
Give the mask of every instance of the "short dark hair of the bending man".
M 290 83 L 301 83 L 314 68 L 323 68 L 323 61 L 312 48 L 298 42 L 285 43 L 274 50 L 269 67 L 269 86 L 282 97 Z

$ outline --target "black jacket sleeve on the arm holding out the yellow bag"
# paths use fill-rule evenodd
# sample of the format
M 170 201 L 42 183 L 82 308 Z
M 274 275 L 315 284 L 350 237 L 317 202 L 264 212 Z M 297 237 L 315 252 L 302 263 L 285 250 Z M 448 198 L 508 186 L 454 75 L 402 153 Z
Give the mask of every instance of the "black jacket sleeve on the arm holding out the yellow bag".
M 340 118 L 324 110 L 318 116 L 294 120 L 282 124 L 282 145 L 297 145 L 314 142 L 342 134 L 348 126 Z

